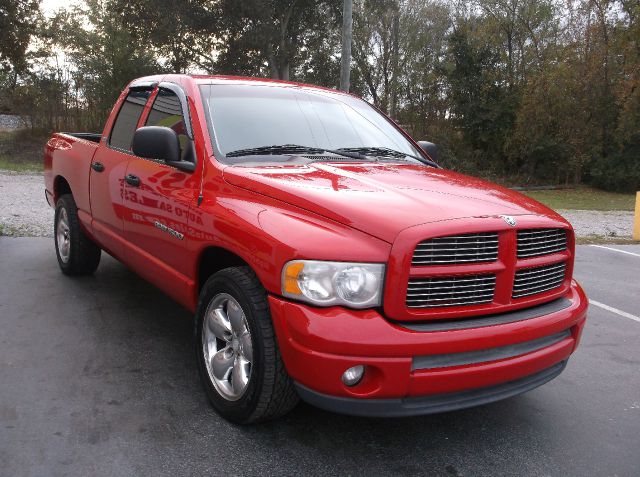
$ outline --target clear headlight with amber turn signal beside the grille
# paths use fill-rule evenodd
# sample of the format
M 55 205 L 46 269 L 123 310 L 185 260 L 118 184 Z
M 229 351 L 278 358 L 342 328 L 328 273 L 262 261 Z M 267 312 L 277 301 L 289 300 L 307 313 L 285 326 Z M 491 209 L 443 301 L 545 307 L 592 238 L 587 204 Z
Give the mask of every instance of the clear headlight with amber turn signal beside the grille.
M 384 264 L 293 260 L 282 269 L 282 294 L 317 306 L 382 304 Z

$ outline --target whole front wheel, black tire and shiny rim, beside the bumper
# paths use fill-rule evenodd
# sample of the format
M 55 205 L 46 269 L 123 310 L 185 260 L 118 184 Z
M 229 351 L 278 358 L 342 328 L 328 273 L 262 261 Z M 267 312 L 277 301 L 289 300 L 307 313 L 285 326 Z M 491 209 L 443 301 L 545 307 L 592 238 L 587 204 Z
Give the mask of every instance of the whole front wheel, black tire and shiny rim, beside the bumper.
M 224 418 L 249 424 L 295 407 L 298 395 L 280 357 L 267 294 L 249 267 L 207 280 L 194 331 L 202 383 Z

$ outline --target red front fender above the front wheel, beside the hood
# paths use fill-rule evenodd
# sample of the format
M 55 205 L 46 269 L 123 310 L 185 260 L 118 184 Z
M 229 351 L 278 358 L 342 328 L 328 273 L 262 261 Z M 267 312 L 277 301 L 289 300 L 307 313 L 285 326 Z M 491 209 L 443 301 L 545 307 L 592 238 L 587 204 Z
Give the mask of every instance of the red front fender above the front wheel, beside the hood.
M 280 294 L 282 267 L 289 260 L 386 263 L 389 257 L 390 244 L 363 232 L 286 204 L 246 199 L 205 199 L 203 227 L 211 232 L 190 235 L 196 253 L 215 246 L 242 258 L 269 293 Z

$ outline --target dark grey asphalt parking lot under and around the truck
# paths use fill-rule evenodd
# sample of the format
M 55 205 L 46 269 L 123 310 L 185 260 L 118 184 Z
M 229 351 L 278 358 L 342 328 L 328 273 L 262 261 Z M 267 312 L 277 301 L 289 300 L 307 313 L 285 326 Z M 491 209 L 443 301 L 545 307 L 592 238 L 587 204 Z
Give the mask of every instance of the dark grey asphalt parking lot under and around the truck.
M 301 404 L 253 427 L 207 403 L 190 313 L 115 260 L 71 279 L 51 239 L 0 237 L 0 270 L 0 475 L 640 474 L 640 245 L 578 247 L 594 303 L 541 388 L 404 419 Z

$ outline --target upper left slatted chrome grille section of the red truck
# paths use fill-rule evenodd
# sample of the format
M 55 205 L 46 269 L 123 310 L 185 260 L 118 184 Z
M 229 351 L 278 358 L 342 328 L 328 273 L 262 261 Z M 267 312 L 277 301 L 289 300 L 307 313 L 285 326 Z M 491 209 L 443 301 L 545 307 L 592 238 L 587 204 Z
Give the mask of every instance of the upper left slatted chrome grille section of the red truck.
M 495 262 L 498 234 L 476 233 L 436 237 L 420 242 L 413 252 L 412 265 L 445 265 L 467 262 Z

